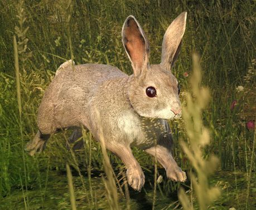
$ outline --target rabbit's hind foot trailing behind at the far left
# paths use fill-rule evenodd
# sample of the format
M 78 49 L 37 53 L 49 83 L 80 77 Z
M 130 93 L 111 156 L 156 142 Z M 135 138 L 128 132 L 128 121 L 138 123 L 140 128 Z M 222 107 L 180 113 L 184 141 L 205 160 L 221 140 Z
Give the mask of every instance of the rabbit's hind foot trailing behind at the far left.
M 33 156 L 36 152 L 42 152 L 46 147 L 46 142 L 50 138 L 50 134 L 42 134 L 39 130 L 32 141 L 28 142 L 25 150 Z

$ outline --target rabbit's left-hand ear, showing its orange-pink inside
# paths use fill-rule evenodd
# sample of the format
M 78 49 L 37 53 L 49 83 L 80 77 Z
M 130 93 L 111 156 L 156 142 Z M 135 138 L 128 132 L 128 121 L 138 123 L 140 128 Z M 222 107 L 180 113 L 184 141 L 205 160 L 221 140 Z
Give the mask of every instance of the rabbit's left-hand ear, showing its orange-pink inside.
M 149 60 L 149 43 L 135 17 L 129 16 L 122 29 L 122 41 L 125 51 L 132 62 L 134 76 L 139 76 Z

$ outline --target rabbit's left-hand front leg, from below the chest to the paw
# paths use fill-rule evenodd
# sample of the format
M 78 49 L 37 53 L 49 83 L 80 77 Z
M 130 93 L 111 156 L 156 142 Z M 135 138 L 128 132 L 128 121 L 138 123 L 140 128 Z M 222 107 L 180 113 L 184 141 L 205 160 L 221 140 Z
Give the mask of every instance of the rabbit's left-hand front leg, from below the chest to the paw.
M 139 166 L 138 161 L 134 158 L 132 154 L 132 149 L 129 145 L 122 145 L 120 143 L 106 143 L 106 147 L 108 150 L 112 151 L 115 155 L 117 155 L 127 168 L 126 176 L 128 184 L 135 190 L 141 191 L 141 188 L 145 182 L 145 176 Z

